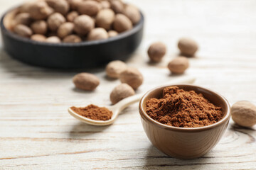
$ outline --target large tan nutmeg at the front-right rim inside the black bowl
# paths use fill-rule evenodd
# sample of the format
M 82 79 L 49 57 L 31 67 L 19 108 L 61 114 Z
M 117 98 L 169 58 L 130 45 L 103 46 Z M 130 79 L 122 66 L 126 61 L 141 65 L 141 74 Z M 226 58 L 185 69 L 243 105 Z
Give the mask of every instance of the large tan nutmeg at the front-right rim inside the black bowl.
M 130 21 L 127 16 L 118 13 L 114 18 L 113 27 L 114 30 L 117 30 L 118 33 L 122 33 L 126 30 L 132 29 L 132 21 Z

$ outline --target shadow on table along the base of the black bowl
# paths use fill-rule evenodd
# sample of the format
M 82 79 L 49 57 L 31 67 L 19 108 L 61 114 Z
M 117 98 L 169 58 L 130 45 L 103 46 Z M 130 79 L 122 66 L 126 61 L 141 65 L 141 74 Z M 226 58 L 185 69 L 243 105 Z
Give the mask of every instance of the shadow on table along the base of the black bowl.
M 24 64 L 11 58 L 2 47 L 0 47 L 0 69 L 5 72 L 14 74 L 18 77 L 26 77 L 31 79 L 70 79 L 74 74 L 79 72 L 102 72 L 105 68 L 98 69 L 47 69 L 43 67 L 34 67 Z

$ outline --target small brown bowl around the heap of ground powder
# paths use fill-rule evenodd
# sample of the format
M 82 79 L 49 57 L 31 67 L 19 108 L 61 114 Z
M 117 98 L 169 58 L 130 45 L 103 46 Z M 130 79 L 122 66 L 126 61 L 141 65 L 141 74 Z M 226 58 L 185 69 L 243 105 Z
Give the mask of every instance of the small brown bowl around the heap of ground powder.
M 193 90 L 198 94 L 203 94 L 208 101 L 222 108 L 223 118 L 218 123 L 200 128 L 177 128 L 161 124 L 150 118 L 145 111 L 146 101 L 149 98 L 162 98 L 163 90 L 167 86 L 159 86 L 148 91 L 139 103 L 139 113 L 142 117 L 144 131 L 155 147 L 171 157 L 181 159 L 202 157 L 215 147 L 228 127 L 230 105 L 220 94 L 201 86 L 188 84 L 170 86 L 178 86 L 185 91 Z

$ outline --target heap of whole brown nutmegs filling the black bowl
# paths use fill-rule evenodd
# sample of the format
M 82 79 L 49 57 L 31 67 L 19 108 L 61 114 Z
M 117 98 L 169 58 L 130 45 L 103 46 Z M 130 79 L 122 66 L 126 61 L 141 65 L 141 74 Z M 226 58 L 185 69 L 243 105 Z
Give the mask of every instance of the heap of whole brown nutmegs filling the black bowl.
M 136 6 L 120 0 L 35 0 L 18 8 L 11 30 L 41 42 L 81 42 L 114 37 L 140 19 Z

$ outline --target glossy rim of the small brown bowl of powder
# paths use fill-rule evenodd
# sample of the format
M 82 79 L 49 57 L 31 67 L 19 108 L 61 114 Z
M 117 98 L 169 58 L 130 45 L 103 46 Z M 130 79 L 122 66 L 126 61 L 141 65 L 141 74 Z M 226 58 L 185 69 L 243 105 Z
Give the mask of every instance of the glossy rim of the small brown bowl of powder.
M 146 102 L 145 101 L 146 96 L 151 94 L 153 91 L 156 91 L 158 89 L 165 88 L 165 87 L 168 87 L 168 86 L 191 86 L 192 88 L 197 87 L 199 89 L 203 89 L 204 91 L 208 91 L 210 94 L 218 96 L 219 98 L 222 98 L 224 103 L 225 103 L 225 106 L 227 106 L 227 108 L 228 108 L 227 111 L 226 111 L 225 116 L 221 120 L 219 120 L 217 123 L 213 123 L 212 125 L 202 126 L 202 127 L 198 127 L 198 128 L 179 128 L 179 127 L 164 125 L 162 123 L 159 123 L 158 121 L 151 118 L 146 113 L 146 111 L 144 111 L 143 106 L 144 106 L 144 103 Z M 140 113 L 142 118 L 146 119 L 147 122 L 149 122 L 153 125 L 156 125 L 159 128 L 164 128 L 164 129 L 167 129 L 167 130 L 172 130 L 172 131 L 177 131 L 177 132 L 200 132 L 200 131 L 210 130 L 210 129 L 216 128 L 220 125 L 223 125 L 223 123 L 226 123 L 228 120 L 230 120 L 230 115 L 231 115 L 231 113 L 230 113 L 230 104 L 228 103 L 228 100 L 225 97 L 223 97 L 221 94 L 219 94 L 216 91 L 212 91 L 212 90 L 206 89 L 202 86 L 197 86 L 197 85 L 192 85 L 192 84 L 170 84 L 170 85 L 156 86 L 155 88 L 150 89 L 149 91 L 146 92 L 146 94 L 144 94 L 144 96 L 139 101 L 139 113 Z

